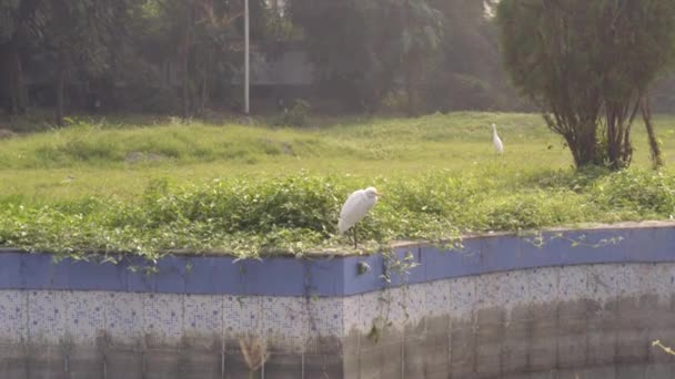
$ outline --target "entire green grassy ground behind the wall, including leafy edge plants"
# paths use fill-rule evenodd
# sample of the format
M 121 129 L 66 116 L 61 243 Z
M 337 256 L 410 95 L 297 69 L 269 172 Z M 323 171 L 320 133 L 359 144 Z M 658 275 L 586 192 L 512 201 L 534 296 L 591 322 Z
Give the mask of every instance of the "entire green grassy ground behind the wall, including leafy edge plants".
M 492 147 L 496 123 L 505 153 Z M 74 121 L 0 141 L 0 245 L 218 250 L 242 256 L 344 250 L 342 202 L 376 185 L 366 248 L 675 214 L 675 117 L 656 126 L 666 168 L 648 170 L 644 126 L 633 167 L 575 173 L 562 140 L 534 114 L 318 120 L 286 129 L 164 119 Z

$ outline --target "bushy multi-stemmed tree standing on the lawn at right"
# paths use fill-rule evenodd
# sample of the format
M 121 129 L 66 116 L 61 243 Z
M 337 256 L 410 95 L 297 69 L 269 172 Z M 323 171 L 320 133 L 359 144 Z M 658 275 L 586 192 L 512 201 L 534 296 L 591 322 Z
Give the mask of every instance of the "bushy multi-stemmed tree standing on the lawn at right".
M 635 115 L 673 58 L 675 2 L 502 0 L 497 22 L 513 83 L 565 139 L 576 166 L 629 165 Z

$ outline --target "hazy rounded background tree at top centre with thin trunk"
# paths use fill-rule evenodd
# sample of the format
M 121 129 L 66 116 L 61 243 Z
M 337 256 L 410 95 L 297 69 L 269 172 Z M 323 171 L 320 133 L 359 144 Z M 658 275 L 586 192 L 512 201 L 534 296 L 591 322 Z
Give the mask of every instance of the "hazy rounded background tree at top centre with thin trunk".
M 443 14 L 426 0 L 291 0 L 289 13 L 325 93 L 374 111 L 402 83 L 409 113 L 416 111 L 443 39 Z

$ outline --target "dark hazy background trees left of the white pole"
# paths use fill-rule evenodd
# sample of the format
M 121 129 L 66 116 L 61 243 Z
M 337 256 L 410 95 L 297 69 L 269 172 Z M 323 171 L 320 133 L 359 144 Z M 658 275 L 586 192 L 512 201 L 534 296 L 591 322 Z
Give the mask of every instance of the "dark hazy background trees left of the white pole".
M 213 0 L 0 0 L 0 84 L 9 84 L 0 103 L 12 114 L 54 105 L 59 123 L 68 109 L 99 110 L 101 100 L 107 110 L 203 113 L 241 65 L 233 54 L 242 9 Z M 258 41 L 281 33 L 265 1 L 251 0 L 251 14 Z

